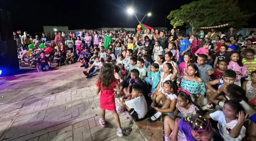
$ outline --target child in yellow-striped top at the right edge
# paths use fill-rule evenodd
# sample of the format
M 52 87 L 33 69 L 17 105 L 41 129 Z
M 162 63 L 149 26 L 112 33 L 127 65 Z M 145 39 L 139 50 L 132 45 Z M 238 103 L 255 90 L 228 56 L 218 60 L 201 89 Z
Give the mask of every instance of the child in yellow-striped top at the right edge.
M 251 78 L 251 72 L 256 70 L 256 58 L 254 58 L 254 50 L 247 48 L 244 50 L 244 58 L 242 59 L 243 64 L 247 68 L 247 80 Z

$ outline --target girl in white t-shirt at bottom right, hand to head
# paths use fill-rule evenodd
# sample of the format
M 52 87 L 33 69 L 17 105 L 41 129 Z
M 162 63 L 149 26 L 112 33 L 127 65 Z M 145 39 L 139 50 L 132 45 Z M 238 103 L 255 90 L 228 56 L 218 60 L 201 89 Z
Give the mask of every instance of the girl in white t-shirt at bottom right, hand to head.
M 246 128 L 243 126 L 248 115 L 239 102 L 227 100 L 224 102 L 223 111 L 216 111 L 206 115 L 206 119 L 218 121 L 218 129 L 224 141 L 241 141 L 245 136 Z M 215 140 L 218 138 L 215 136 Z

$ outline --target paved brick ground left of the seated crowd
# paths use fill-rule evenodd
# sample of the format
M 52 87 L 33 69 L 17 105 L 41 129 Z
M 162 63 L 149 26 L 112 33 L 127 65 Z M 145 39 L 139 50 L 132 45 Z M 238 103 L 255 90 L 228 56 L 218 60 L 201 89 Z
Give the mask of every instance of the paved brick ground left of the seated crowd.
M 120 120 L 132 129 L 128 136 L 117 137 L 110 112 L 109 124 L 99 125 L 97 77 L 86 80 L 79 65 L 1 79 L 0 141 L 142 141 L 125 113 Z

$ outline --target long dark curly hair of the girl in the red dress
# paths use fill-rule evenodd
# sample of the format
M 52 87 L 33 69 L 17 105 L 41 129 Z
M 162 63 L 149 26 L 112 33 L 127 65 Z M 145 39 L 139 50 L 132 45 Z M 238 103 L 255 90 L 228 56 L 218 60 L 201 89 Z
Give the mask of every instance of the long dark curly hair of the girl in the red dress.
M 100 75 L 99 75 L 99 84 L 102 83 L 103 88 L 105 90 L 108 90 L 109 86 L 114 81 L 116 81 L 116 78 L 114 76 L 113 66 L 109 63 L 103 63 L 103 66 L 101 67 Z

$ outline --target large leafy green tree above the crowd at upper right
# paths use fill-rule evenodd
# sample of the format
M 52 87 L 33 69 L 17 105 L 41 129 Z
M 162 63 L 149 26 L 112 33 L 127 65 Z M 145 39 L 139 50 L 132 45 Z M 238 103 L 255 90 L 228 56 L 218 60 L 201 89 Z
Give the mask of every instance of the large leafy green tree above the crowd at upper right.
M 200 27 L 229 24 L 240 29 L 251 15 L 240 11 L 237 0 L 199 0 L 173 10 L 167 16 L 174 28 L 186 24 L 192 33 Z

